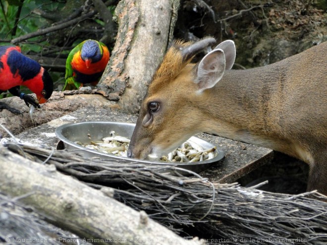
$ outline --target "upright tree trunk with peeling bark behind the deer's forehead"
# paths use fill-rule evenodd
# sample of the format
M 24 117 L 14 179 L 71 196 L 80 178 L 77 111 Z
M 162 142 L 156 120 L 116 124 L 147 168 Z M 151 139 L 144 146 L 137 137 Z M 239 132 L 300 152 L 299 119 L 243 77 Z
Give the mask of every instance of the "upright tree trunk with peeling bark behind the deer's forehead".
M 147 85 L 163 60 L 177 19 L 179 0 L 122 0 L 118 34 L 99 92 L 137 113 Z

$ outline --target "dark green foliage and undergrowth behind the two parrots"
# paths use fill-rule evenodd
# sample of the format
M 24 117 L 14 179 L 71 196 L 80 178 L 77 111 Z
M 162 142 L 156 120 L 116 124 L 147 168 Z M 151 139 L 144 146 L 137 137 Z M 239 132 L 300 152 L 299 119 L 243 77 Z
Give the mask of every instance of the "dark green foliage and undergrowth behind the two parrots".
M 111 2 L 108 11 L 112 13 L 117 1 Z M 78 8 L 81 10 L 73 16 Z M 0 45 L 10 45 L 16 38 L 60 24 L 65 22 L 66 18 L 78 18 L 92 11 L 94 6 L 90 0 L 0 0 Z M 94 15 L 72 24 L 70 28 L 28 38 L 15 45 L 21 48 L 24 55 L 30 55 L 48 69 L 53 77 L 55 90 L 61 90 L 60 86 L 64 84 L 65 59 L 70 50 L 83 40 L 99 40 L 105 27 L 104 23 L 103 19 Z M 107 45 L 113 47 L 113 44 Z M 47 58 L 47 61 L 42 58 Z M 0 98 L 7 95 L 9 94 L 3 93 Z

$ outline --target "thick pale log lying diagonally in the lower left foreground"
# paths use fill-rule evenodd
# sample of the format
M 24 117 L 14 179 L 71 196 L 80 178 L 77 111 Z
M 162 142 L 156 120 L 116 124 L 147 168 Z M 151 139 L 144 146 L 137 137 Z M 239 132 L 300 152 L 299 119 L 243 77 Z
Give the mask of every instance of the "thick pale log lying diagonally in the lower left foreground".
M 95 243 L 118 244 L 200 244 L 185 241 L 145 212 L 137 212 L 110 198 L 112 189 L 96 190 L 58 173 L 54 165 L 42 165 L 0 146 L 0 191 L 21 196 L 56 226 Z M 112 241 L 109 241 L 111 239 Z M 117 241 L 117 242 L 115 242 Z

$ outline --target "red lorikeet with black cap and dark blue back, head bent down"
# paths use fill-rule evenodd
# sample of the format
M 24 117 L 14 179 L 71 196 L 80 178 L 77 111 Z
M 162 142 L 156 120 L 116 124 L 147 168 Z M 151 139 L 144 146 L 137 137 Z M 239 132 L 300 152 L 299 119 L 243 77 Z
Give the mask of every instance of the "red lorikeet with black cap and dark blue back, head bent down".
M 37 101 L 20 92 L 20 86 L 26 86 L 36 94 Z M 37 61 L 21 53 L 18 46 L 0 46 L 0 93 L 9 91 L 24 100 L 26 105 L 40 108 L 39 104 L 47 102 L 54 91 L 54 83 L 48 71 Z M 0 109 L 19 114 L 14 108 L 0 103 Z

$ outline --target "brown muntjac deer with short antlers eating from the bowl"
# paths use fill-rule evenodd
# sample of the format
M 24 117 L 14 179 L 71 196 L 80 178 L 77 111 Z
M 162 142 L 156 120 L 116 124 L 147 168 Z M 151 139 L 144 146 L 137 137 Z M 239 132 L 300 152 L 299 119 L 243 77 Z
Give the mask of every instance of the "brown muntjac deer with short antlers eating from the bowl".
M 234 42 L 174 42 L 148 87 L 127 155 L 162 156 L 208 132 L 310 165 L 308 190 L 327 195 L 327 42 L 276 63 L 231 70 Z

